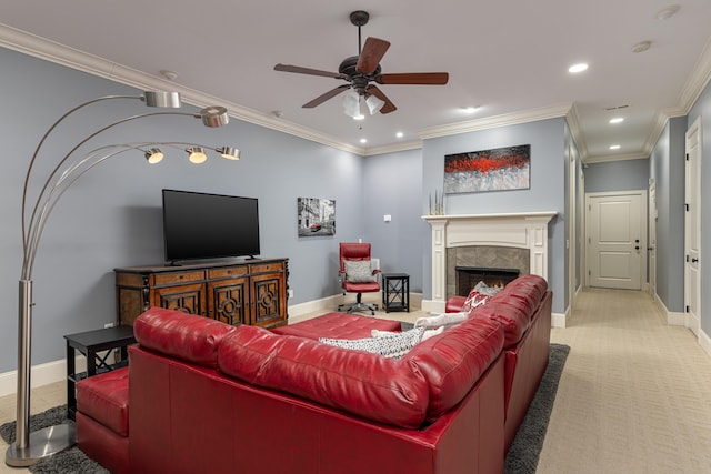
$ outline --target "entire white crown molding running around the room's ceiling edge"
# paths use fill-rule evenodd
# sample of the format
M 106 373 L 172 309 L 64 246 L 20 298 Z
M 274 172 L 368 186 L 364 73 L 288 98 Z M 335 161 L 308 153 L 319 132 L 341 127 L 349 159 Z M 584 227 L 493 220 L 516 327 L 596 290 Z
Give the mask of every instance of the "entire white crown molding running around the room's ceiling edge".
M 196 107 L 207 107 L 213 105 L 214 103 L 221 103 L 228 109 L 228 113 L 230 114 L 230 117 L 234 119 L 363 157 L 419 149 L 422 148 L 422 140 L 425 139 L 475 132 L 498 127 L 514 125 L 520 123 L 564 117 L 568 121 L 573 141 L 578 147 L 578 151 L 583 163 L 648 158 L 657 140 L 663 132 L 669 118 L 683 117 L 689 114 L 691 108 L 699 99 L 704 88 L 709 84 L 709 81 L 711 81 L 710 39 L 707 42 L 703 51 L 701 52 L 699 60 L 697 61 L 697 65 L 682 90 L 679 99 L 679 104 L 677 107 L 663 109 L 657 113 L 652 131 L 644 142 L 644 152 L 641 154 L 590 157 L 582 130 L 580 128 L 578 108 L 574 102 L 450 123 L 441 127 L 433 127 L 419 131 L 419 140 L 417 141 L 394 143 L 383 147 L 363 148 L 344 143 L 333 137 L 320 133 L 313 129 L 302 127 L 293 122 L 289 122 L 288 120 L 283 120 L 281 118 L 273 117 L 272 114 L 259 112 L 238 103 L 226 102 L 224 100 L 216 98 L 213 95 L 181 87 L 174 82 L 123 67 L 113 61 L 108 61 L 103 58 L 89 54 L 53 41 L 49 41 L 44 38 L 18 30 L 7 24 L 0 24 L 0 46 L 34 58 L 43 59 L 46 61 L 88 72 L 90 74 L 109 79 L 111 81 L 130 85 L 137 89 L 170 89 L 180 92 L 183 102 L 190 103 Z M 642 155 L 644 153 L 647 153 L 645 157 Z

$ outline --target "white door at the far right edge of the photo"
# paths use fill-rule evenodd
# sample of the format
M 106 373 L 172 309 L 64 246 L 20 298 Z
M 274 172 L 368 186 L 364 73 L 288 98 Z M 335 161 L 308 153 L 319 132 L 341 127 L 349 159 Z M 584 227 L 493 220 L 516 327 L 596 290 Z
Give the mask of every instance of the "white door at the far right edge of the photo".
M 701 317 L 701 118 L 687 131 L 687 212 L 684 212 L 684 305 L 687 325 L 700 334 Z

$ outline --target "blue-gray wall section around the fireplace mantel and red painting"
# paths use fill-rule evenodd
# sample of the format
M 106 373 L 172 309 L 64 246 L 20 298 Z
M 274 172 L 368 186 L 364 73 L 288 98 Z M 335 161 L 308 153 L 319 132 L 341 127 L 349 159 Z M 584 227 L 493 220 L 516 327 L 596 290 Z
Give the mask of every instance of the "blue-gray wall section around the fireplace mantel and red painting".
M 533 123 L 500 127 L 424 141 L 421 211 L 428 212 L 428 196 L 441 192 L 444 155 L 518 144 L 531 144 L 531 188 L 529 190 L 449 194 L 447 214 L 554 211 L 549 225 L 549 284 L 554 292 L 553 311 L 565 310 L 565 121 L 550 119 Z M 428 235 L 427 248 L 431 245 Z M 431 297 L 431 254 L 424 255 L 423 297 Z

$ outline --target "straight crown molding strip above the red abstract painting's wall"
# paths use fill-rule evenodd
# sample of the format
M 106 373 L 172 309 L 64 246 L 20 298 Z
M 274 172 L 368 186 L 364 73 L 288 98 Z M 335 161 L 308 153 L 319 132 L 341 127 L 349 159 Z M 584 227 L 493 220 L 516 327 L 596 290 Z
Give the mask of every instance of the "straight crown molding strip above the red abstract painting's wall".
M 543 107 L 539 109 L 523 110 L 520 112 L 503 113 L 500 115 L 485 117 L 477 120 L 450 123 L 441 127 L 432 127 L 418 132 L 421 139 L 433 139 L 438 137 L 455 135 L 459 133 L 477 132 L 480 130 L 493 129 L 498 127 L 517 125 L 520 123 L 535 122 L 539 120 L 555 119 L 565 117 L 571 104 L 559 104 Z

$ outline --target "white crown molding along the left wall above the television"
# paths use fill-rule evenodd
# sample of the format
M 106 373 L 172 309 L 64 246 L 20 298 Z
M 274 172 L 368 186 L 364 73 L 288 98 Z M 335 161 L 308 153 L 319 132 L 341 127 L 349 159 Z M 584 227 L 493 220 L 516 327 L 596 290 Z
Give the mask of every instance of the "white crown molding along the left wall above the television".
M 364 148 L 343 143 L 340 140 L 319 133 L 312 129 L 276 118 L 271 114 L 248 109 L 238 103 L 224 101 L 223 99 L 137 71 L 136 69 L 123 67 L 98 56 L 88 54 L 77 49 L 30 34 L 26 31 L 8 27 L 7 24 L 0 24 L 0 46 L 140 90 L 158 89 L 180 92 L 181 100 L 184 103 L 199 108 L 219 103 L 226 107 L 229 115 L 234 119 L 266 127 L 268 129 L 277 130 L 350 153 L 360 155 L 365 154 Z

